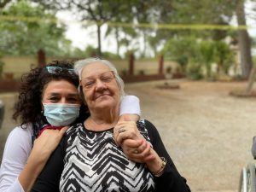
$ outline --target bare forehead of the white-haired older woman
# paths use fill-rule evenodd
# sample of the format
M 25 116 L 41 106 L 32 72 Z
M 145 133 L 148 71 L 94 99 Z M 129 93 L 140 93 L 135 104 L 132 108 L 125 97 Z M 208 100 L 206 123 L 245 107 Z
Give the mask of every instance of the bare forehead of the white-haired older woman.
M 102 62 L 94 62 L 84 67 L 82 71 L 82 78 L 94 76 L 103 72 L 108 72 L 111 69 Z

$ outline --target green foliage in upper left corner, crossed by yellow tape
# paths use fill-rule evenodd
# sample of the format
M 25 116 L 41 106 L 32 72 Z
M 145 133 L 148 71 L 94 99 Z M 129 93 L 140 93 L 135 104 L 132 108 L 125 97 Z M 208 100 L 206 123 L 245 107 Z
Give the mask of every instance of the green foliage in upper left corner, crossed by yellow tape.
M 5 55 L 35 55 L 38 49 L 44 49 L 47 55 L 65 55 L 71 42 L 64 38 L 65 27 L 50 20 L 50 15 L 40 6 L 22 0 L 3 9 L 1 15 L 17 16 L 20 20 L 1 21 L 0 51 Z M 26 21 L 22 18 L 44 18 L 45 22 Z

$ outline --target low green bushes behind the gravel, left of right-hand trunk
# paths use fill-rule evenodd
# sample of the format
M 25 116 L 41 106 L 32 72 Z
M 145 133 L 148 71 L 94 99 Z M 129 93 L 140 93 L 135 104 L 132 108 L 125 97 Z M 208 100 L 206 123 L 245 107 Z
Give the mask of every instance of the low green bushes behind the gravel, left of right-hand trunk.
M 218 65 L 218 73 L 227 74 L 235 59 L 230 45 L 223 41 L 200 41 L 192 37 L 170 39 L 162 53 L 167 59 L 177 61 L 190 79 L 201 79 L 203 69 L 207 72 L 207 79 L 212 79 L 213 63 Z

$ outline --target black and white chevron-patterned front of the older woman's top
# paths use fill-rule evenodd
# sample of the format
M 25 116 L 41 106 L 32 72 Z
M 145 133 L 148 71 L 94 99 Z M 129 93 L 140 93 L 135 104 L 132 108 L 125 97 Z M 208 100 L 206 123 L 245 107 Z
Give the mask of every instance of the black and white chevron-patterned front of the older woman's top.
M 150 142 L 144 122 L 137 125 Z M 113 140 L 113 128 L 89 131 L 79 124 L 67 136 L 61 191 L 154 191 L 154 177 L 146 166 L 126 158 Z

